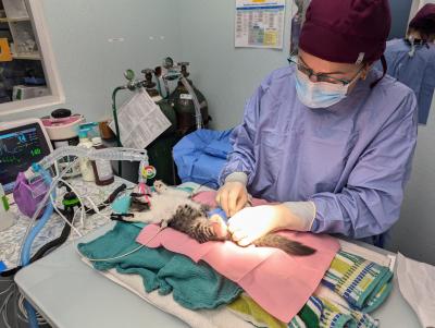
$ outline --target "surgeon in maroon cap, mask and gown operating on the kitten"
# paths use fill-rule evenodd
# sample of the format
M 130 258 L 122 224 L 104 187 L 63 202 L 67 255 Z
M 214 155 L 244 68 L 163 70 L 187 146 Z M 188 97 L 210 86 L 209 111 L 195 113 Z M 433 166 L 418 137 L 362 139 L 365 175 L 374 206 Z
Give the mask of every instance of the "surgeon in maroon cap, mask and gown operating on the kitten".
M 261 83 L 232 134 L 216 202 L 239 245 L 282 229 L 382 245 L 417 141 L 413 92 L 384 76 L 389 28 L 388 0 L 311 1 L 299 52 Z M 247 207 L 249 194 L 273 205 Z

